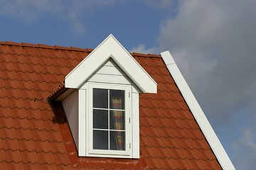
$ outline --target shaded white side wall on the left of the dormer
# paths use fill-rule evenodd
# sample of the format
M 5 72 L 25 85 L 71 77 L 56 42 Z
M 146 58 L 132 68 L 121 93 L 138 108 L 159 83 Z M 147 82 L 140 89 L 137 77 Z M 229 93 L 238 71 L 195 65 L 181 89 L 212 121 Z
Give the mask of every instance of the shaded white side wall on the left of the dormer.
M 78 149 L 78 90 L 68 95 L 62 103 L 75 145 Z

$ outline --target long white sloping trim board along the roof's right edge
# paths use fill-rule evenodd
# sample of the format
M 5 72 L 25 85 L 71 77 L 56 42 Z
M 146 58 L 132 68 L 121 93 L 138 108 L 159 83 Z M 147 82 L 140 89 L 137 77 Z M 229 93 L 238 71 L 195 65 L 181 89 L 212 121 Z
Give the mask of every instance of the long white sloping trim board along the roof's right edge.
M 166 67 L 169 69 L 171 76 L 174 78 L 178 89 L 181 91 L 181 94 L 183 95 L 183 98 L 188 104 L 188 107 L 190 108 L 193 116 L 195 117 L 199 127 L 201 128 L 203 135 L 205 135 L 211 149 L 213 149 L 215 157 L 217 157 L 218 162 L 220 162 L 220 166 L 225 170 L 235 170 L 235 167 L 233 166 L 230 158 L 228 157 L 228 154 L 225 152 L 225 149 L 221 145 L 220 140 L 218 140 L 217 135 L 215 134 L 210 123 L 208 122 L 206 115 L 203 113 L 203 110 L 199 106 L 198 101 L 196 101 L 196 98 L 195 96 L 193 96 L 191 89 L 186 83 L 186 80 L 183 78 L 180 70 L 174 62 L 174 58 L 171 57 L 169 51 L 161 52 L 161 57 L 163 58 Z

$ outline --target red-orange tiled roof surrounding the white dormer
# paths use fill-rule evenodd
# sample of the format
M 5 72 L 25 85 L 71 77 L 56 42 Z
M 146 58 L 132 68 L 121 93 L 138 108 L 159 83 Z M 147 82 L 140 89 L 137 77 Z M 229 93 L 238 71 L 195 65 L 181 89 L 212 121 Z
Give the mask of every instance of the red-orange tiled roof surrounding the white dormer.
M 158 84 L 139 96 L 140 159 L 78 157 L 62 104 L 45 99 L 90 52 L 0 42 L 1 169 L 221 169 L 161 56 L 139 53 Z

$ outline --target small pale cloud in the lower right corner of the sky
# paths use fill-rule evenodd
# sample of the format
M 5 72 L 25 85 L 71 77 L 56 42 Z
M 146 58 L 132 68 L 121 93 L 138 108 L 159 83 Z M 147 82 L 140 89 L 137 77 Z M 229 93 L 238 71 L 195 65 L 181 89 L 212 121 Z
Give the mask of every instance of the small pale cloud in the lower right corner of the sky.
M 255 169 L 256 135 L 252 129 L 243 129 L 240 138 L 233 142 L 233 148 L 235 150 L 234 164 L 237 169 Z

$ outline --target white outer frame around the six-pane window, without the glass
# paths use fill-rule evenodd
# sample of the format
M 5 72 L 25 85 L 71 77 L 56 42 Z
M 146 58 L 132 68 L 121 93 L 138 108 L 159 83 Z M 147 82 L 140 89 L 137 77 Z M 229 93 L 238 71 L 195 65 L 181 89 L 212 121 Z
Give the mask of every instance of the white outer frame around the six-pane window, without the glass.
M 125 150 L 103 150 L 93 149 L 93 134 L 92 134 L 92 89 L 110 89 L 110 90 L 124 90 L 125 100 Z M 132 85 L 124 84 L 102 84 L 87 82 L 87 121 L 86 121 L 86 154 L 90 157 L 132 157 Z

